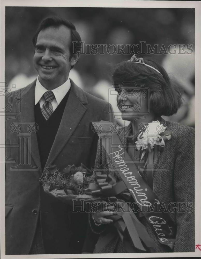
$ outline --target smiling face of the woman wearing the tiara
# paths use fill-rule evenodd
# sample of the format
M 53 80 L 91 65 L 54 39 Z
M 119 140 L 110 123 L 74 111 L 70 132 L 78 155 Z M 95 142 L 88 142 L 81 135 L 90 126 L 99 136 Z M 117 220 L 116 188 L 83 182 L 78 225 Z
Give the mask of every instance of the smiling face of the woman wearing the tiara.
M 134 121 L 139 115 L 149 113 L 148 96 L 147 88 L 120 88 L 117 105 L 122 113 L 122 119 Z

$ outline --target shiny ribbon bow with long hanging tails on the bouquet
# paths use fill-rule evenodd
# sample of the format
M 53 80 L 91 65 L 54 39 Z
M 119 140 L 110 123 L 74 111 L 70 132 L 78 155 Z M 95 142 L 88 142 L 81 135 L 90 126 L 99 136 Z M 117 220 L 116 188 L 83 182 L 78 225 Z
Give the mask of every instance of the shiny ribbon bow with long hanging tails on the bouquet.
M 101 174 L 101 172 L 96 172 L 96 176 L 98 178 L 98 186 L 94 183 L 90 183 L 86 190 L 86 194 L 107 197 L 108 202 L 116 204 L 117 216 L 113 216 L 113 220 L 116 220 L 114 226 L 116 227 L 127 252 L 135 252 L 134 247 L 146 251 L 141 241 L 143 241 L 147 247 L 153 249 L 155 244 L 148 235 L 145 226 L 139 222 L 135 213 L 133 213 L 130 206 L 124 200 L 115 197 L 116 195 L 121 195 L 122 198 L 127 200 L 131 198 L 131 194 L 124 182 L 117 182 L 116 178 L 109 173 Z M 118 207 L 120 203 L 123 210 L 120 210 L 120 207 Z M 130 244 L 126 236 L 126 230 L 129 233 L 132 244 Z M 96 250 L 102 250 L 114 236 L 115 234 L 112 233 L 106 234 L 104 238 L 96 244 Z

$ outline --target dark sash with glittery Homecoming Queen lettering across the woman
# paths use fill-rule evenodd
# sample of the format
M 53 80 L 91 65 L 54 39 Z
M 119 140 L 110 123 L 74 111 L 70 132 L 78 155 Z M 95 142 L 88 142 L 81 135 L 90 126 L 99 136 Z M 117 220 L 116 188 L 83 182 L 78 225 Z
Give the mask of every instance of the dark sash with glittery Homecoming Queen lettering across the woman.
M 118 135 L 118 124 L 108 121 L 92 122 L 93 131 L 98 134 L 118 174 L 150 224 L 158 241 L 174 249 L 175 224 L 167 212 L 161 212 L 161 202 L 153 190 L 144 182 L 135 163 L 126 152 Z M 154 210 L 153 210 L 154 208 Z

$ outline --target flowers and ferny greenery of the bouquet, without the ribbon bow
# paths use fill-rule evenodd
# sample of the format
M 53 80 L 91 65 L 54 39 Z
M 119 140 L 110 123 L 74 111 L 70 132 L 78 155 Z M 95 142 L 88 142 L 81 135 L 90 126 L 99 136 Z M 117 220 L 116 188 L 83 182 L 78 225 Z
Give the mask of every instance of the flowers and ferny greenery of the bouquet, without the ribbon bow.
M 68 165 L 62 172 L 59 172 L 55 165 L 49 165 L 40 181 L 46 193 L 68 205 L 73 205 L 73 200 L 95 200 L 94 196 L 85 194 L 89 184 L 97 182 L 95 173 L 82 163 L 79 167 Z

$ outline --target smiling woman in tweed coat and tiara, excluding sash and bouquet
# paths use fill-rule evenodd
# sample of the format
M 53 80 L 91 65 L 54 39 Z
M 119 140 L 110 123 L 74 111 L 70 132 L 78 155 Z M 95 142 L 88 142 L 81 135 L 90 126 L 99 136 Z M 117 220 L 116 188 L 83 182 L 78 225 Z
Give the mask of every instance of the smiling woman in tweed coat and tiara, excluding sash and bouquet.
M 195 251 L 194 129 L 165 121 L 160 117 L 177 112 L 182 105 L 181 94 L 171 84 L 166 71 L 158 63 L 148 59 L 137 59 L 135 55 L 130 60 L 117 64 L 113 81 L 118 93 L 117 104 L 122 119 L 130 121 L 128 126 L 117 131 L 117 135 L 121 143 L 126 146 L 126 151 L 138 168 L 144 183 L 153 191 L 152 195 L 156 195 L 168 211 L 169 220 L 175 226 L 170 227 L 169 233 L 170 236 L 175 233 L 171 236 L 172 249 L 167 243 L 161 242 L 165 240 L 162 222 L 158 222 L 157 225 L 155 221 L 154 231 L 145 214 L 136 213 L 136 216 L 146 227 L 148 235 L 154 242 L 155 252 L 193 252 Z M 147 131 L 156 136 L 148 140 Z M 150 156 L 151 153 L 153 155 Z M 148 170 L 150 169 L 148 159 L 152 161 L 151 171 Z M 96 170 L 109 172 L 118 181 L 122 180 L 100 141 L 95 166 Z M 90 224 L 93 232 L 101 233 L 99 241 L 108 232 L 115 233 L 114 214 L 106 210 L 92 213 Z M 146 252 L 151 251 L 148 247 L 145 248 Z M 144 252 L 136 248 L 134 251 Z M 128 251 L 117 232 L 102 250 L 98 251 L 97 248 L 94 250 L 94 253 L 126 252 Z

